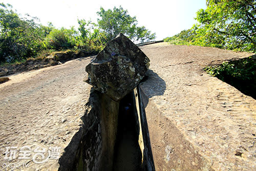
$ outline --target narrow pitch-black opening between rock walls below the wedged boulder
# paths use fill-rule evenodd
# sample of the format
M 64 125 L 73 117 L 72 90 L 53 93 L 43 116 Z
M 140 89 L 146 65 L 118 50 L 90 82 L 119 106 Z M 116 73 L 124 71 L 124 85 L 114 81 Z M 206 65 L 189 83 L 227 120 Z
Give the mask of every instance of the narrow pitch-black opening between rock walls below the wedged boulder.
M 141 162 L 138 114 L 132 92 L 127 94 L 119 103 L 113 166 L 115 171 L 141 170 Z

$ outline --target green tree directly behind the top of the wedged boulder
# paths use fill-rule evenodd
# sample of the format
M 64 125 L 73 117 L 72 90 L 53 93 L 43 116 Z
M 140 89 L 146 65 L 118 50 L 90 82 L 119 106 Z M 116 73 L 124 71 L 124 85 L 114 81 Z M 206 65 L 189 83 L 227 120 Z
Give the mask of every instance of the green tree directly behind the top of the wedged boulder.
M 133 41 L 143 42 L 152 40 L 156 36 L 155 33 L 147 30 L 144 26 L 138 27 L 136 17 L 128 14 L 121 6 L 114 7 L 113 10 L 104 10 L 102 7 L 97 12 L 99 30 L 106 35 L 106 40 L 109 41 L 115 38 L 119 33 L 123 33 Z

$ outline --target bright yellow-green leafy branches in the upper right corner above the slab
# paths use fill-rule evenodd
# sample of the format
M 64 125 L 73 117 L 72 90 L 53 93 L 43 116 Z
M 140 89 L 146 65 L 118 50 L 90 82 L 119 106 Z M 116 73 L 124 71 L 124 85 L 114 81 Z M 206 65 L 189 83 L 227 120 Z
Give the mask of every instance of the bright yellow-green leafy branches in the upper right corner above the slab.
M 165 41 L 256 52 L 254 0 L 207 0 L 206 3 L 207 8 L 197 12 L 198 24 Z

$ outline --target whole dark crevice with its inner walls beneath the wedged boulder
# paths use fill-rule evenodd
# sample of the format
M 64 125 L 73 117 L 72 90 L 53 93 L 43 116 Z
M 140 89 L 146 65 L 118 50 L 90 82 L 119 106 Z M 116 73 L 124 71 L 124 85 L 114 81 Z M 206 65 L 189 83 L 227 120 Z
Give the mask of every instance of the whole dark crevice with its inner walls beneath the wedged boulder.
M 138 88 L 119 102 L 92 90 L 83 125 L 59 159 L 59 170 L 154 171 L 141 98 Z

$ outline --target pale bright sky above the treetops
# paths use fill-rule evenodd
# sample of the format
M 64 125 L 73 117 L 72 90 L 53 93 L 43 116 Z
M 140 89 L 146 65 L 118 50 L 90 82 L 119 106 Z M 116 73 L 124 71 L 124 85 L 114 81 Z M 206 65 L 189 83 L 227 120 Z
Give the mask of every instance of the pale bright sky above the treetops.
M 97 22 L 100 7 L 105 10 L 122 6 L 131 16 L 136 16 L 138 26 L 145 26 L 156 33 L 156 40 L 173 36 L 196 23 L 196 12 L 206 9 L 205 0 L 2 0 L 11 4 L 19 14 L 38 17 L 40 23 L 48 22 L 56 28 L 78 27 L 77 19 Z

